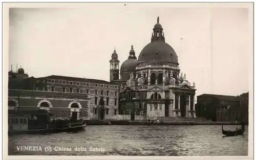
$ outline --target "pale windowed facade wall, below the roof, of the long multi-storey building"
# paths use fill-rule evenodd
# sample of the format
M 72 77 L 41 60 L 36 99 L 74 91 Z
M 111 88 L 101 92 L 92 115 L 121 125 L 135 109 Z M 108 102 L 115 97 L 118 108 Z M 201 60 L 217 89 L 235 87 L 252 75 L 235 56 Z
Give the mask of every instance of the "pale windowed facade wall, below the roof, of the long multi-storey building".
M 54 87 L 53 92 L 62 92 L 65 88 L 65 92 L 70 93 L 79 93 L 89 95 L 91 98 L 90 101 L 90 113 L 89 116 L 91 119 L 95 119 L 97 116 L 94 114 L 94 108 L 97 108 L 99 105 L 99 100 L 101 97 L 104 98 L 104 104 L 106 108 L 109 108 L 109 115 L 114 115 L 114 110 L 118 108 L 118 84 L 103 84 L 103 83 L 92 83 L 92 82 L 82 82 L 82 81 L 72 81 L 72 80 L 63 80 L 63 79 L 40 79 L 42 83 L 46 83 L 46 87 L 40 88 L 41 90 L 51 91 Z M 44 85 L 42 85 L 44 86 Z M 70 90 L 72 88 L 72 90 Z M 79 89 L 79 90 L 77 90 Z M 109 98 L 109 104 L 106 105 L 106 98 Z M 97 102 L 95 103 L 95 99 Z M 116 100 L 116 104 L 115 104 Z M 97 114 L 96 114 L 97 115 Z M 118 112 L 117 112 L 118 115 Z

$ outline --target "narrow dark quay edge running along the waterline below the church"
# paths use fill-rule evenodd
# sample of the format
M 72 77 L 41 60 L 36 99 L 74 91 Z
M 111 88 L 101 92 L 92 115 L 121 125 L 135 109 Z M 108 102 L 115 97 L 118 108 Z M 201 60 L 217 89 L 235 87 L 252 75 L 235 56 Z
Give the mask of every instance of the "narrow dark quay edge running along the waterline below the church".
M 194 122 L 194 121 L 118 121 L 118 120 L 87 120 L 87 125 L 241 125 L 240 122 Z

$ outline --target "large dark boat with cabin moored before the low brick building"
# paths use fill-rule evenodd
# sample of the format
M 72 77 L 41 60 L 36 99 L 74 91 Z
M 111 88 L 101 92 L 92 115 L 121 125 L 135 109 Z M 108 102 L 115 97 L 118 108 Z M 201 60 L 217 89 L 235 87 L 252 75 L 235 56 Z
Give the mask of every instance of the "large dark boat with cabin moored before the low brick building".
M 28 112 L 8 115 L 8 135 L 18 134 L 51 134 L 60 132 L 83 131 L 87 124 L 82 120 L 49 120 L 50 113 L 44 110 L 32 111 L 33 115 L 28 117 Z M 30 113 L 31 114 L 31 111 Z

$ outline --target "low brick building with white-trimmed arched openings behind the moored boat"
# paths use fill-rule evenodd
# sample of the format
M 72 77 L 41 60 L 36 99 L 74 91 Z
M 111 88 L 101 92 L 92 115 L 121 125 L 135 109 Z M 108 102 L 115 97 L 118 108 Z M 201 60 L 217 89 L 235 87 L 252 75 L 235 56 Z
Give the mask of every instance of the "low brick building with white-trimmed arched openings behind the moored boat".
M 8 111 L 48 110 L 54 119 L 90 119 L 87 95 L 38 90 L 8 90 Z

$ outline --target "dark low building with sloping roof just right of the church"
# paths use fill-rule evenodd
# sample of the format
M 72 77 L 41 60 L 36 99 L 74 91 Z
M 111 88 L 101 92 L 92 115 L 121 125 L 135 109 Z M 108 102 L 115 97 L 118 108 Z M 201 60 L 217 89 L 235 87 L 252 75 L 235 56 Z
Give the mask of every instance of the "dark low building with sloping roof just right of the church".
M 235 107 L 239 105 L 240 96 L 203 94 L 197 96 L 197 117 L 212 121 L 229 121 L 229 117 L 225 117 L 229 114 L 227 110 L 237 110 Z

